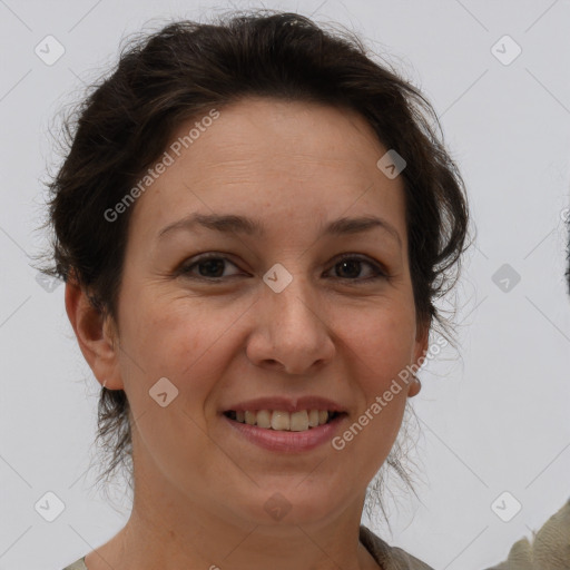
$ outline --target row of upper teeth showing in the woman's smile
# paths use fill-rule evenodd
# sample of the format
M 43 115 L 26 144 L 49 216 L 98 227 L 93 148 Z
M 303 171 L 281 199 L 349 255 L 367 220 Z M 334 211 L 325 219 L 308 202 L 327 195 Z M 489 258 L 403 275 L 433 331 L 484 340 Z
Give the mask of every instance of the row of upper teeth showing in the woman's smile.
M 325 424 L 332 414 L 333 412 L 327 410 L 301 410 L 293 413 L 283 410 L 259 410 L 258 412 L 232 412 L 232 417 L 237 422 L 266 430 L 303 432 Z

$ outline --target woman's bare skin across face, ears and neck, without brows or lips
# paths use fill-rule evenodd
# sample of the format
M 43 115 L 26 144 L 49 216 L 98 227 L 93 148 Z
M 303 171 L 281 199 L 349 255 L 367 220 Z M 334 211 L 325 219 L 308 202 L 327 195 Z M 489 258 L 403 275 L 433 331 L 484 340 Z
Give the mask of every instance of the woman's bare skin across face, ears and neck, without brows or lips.
M 341 433 L 424 354 L 403 181 L 376 167 L 387 149 L 357 114 L 262 98 L 219 111 L 132 206 L 118 323 L 67 284 L 87 362 L 107 389 L 126 391 L 134 416 L 132 513 L 87 567 L 377 569 L 358 542 L 365 489 L 419 385 L 403 384 L 342 451 L 262 450 L 220 412 L 259 396 L 318 395 L 346 407 Z M 257 218 L 266 233 L 200 227 L 157 237 L 195 212 Z M 333 219 L 366 215 L 392 225 L 400 242 L 382 228 L 321 236 Z M 208 252 L 229 259 L 222 281 L 204 266 L 212 277 L 177 274 Z M 346 253 L 372 265 L 343 268 Z M 281 293 L 262 279 L 276 263 L 293 276 Z M 390 277 L 370 278 L 374 264 Z M 165 407 L 149 396 L 161 377 L 178 390 Z M 291 505 L 278 521 L 264 509 L 277 492 Z

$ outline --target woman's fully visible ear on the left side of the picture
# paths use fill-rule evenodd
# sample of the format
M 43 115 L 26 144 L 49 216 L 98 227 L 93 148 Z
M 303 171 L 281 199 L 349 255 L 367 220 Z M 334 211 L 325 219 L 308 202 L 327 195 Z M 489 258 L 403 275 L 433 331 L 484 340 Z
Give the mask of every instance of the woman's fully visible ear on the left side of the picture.
M 66 283 L 66 312 L 79 348 L 95 374 L 109 390 L 122 390 L 119 342 L 115 323 L 92 306 L 86 292 L 70 277 Z

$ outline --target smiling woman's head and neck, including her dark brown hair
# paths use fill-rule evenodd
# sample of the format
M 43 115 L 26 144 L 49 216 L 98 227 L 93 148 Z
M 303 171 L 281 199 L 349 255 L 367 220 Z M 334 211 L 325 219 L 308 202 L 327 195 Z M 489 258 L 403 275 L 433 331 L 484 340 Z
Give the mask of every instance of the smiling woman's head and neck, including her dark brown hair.
M 51 183 L 46 271 L 134 505 L 68 570 L 430 568 L 360 523 L 465 248 L 432 118 L 297 14 L 122 53 Z

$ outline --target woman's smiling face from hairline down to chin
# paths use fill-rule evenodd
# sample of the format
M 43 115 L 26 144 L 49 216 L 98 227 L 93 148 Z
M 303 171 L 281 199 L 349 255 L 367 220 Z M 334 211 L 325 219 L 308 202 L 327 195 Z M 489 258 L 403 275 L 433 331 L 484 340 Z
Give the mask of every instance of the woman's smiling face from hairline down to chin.
M 414 387 L 373 403 L 426 348 L 403 181 L 346 110 L 246 99 L 197 121 L 130 206 L 106 380 L 130 403 L 136 481 L 225 520 L 325 520 L 362 501 Z M 343 413 L 308 428 L 311 410 Z

